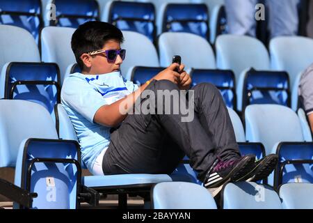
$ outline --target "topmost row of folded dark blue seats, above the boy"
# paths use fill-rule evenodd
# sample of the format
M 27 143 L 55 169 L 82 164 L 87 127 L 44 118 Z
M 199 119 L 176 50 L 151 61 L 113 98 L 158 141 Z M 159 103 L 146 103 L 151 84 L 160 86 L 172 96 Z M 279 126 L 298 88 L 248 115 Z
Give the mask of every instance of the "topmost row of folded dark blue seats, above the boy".
M 208 6 L 212 7 L 212 13 Z M 27 29 L 36 43 L 40 43 L 40 29 L 44 26 L 77 28 L 79 24 L 94 20 L 110 22 L 122 30 L 137 31 L 152 42 L 163 32 L 184 31 L 214 43 L 216 32 L 223 33 L 226 24 L 223 0 L 209 0 L 207 4 L 186 0 L 24 0 L 19 4 L 0 1 L 0 24 Z

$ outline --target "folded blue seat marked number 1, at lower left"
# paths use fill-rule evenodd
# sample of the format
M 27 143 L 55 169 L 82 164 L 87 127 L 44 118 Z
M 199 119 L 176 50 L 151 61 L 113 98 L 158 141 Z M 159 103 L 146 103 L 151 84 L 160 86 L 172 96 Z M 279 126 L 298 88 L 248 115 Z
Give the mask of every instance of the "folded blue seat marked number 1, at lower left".
M 97 200 L 97 192 L 81 187 L 79 144 L 58 140 L 47 109 L 0 100 L 0 132 L 0 167 L 15 167 L 15 190 L 3 195 L 14 198 L 15 208 L 79 208 L 78 198 L 87 198 L 83 194 Z M 8 185 L 0 183 L 0 192 Z M 20 190 L 26 193 L 13 194 Z

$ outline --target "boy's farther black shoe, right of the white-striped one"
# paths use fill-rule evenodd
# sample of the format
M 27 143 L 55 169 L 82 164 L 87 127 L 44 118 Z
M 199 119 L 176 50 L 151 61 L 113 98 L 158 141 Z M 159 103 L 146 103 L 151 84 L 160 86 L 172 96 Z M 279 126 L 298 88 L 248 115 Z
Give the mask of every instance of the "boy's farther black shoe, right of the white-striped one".
M 270 154 L 255 162 L 255 168 L 249 174 L 243 176 L 237 181 L 254 181 L 264 180 L 273 172 L 278 164 L 278 155 Z

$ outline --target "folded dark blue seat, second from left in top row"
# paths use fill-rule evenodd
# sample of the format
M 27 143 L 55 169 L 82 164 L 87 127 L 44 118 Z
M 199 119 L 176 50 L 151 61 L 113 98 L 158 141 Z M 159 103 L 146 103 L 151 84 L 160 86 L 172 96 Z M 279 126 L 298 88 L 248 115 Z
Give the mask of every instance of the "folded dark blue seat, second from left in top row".
M 51 0 L 56 9 L 56 20 L 50 26 L 77 28 L 88 21 L 99 20 L 99 6 L 95 0 Z

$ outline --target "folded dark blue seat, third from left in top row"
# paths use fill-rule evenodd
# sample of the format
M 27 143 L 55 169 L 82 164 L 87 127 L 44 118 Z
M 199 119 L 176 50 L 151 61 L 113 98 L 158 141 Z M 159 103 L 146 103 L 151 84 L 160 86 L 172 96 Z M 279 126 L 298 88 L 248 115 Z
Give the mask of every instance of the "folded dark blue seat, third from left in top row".
M 155 20 L 154 5 L 148 2 L 109 1 L 102 15 L 102 21 L 109 22 L 121 30 L 141 33 L 152 42 L 157 33 Z

